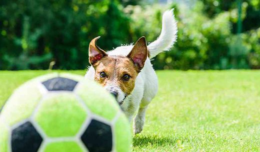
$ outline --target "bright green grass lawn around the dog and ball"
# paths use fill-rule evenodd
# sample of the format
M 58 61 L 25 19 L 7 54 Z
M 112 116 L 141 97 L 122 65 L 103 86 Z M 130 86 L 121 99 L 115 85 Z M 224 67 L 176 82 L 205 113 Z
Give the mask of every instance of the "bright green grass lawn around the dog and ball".
M 84 74 L 84 71 L 70 71 Z M 0 105 L 14 88 L 48 71 L 0 72 Z M 157 71 L 133 152 L 260 151 L 260 71 Z

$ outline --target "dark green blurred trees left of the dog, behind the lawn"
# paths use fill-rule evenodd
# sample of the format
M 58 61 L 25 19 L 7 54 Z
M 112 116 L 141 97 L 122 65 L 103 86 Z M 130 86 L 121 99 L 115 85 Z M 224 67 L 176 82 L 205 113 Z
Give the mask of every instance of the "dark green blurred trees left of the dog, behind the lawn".
M 129 19 L 113 0 L 0 1 L 0 69 L 84 69 L 89 41 L 124 43 Z

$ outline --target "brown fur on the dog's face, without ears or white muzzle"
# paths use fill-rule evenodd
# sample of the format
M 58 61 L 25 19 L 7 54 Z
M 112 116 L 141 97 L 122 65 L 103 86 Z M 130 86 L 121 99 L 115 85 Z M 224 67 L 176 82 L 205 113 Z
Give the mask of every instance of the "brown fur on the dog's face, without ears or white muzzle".
M 138 69 L 133 62 L 127 57 L 121 56 L 104 56 L 100 61 L 93 65 L 95 68 L 94 80 L 105 86 L 109 83 L 118 85 L 121 90 L 129 95 L 133 88 Z M 100 72 L 104 72 L 106 76 L 100 77 Z M 123 75 L 128 74 L 129 80 L 123 80 Z

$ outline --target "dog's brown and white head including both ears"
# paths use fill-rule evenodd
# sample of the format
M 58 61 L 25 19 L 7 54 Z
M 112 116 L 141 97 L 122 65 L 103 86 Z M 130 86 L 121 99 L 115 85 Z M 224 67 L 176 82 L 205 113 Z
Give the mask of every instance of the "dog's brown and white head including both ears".
M 144 37 L 134 44 L 127 56 L 108 56 L 96 45 L 96 37 L 89 44 L 89 63 L 95 69 L 94 80 L 101 84 L 117 100 L 119 105 L 131 94 L 135 79 L 147 58 Z

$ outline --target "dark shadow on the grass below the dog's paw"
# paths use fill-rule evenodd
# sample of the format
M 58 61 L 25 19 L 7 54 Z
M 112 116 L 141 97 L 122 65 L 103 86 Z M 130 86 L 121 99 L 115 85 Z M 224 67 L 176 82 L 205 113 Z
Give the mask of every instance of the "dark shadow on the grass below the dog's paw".
M 174 137 L 159 137 L 156 135 L 149 136 L 135 136 L 133 137 L 133 147 L 146 147 L 149 145 L 152 146 L 165 146 L 165 145 L 176 145 L 179 139 Z

